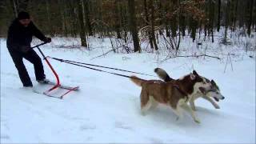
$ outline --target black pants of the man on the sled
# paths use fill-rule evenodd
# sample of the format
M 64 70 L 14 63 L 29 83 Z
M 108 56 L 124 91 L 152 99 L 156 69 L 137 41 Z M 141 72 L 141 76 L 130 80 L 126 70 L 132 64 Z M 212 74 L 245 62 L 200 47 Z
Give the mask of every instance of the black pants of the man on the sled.
M 9 50 L 9 49 L 8 49 Z M 22 81 L 23 86 L 33 86 L 30 76 L 26 71 L 26 67 L 23 63 L 23 58 L 34 64 L 34 74 L 36 80 L 42 80 L 46 78 L 44 74 L 41 58 L 34 50 L 28 51 L 26 54 L 17 52 L 15 50 L 9 50 L 11 58 L 13 58 L 14 64 L 18 70 L 19 78 Z

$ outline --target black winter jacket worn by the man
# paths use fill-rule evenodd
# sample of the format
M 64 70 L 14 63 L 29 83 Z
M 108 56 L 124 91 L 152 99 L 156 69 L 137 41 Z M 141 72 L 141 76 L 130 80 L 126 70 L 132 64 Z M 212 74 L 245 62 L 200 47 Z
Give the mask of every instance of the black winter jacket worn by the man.
M 32 42 L 32 36 L 46 41 L 46 37 L 33 22 L 30 22 L 28 26 L 22 26 L 18 19 L 14 19 L 8 30 L 7 47 L 10 50 L 21 51 L 22 46 L 30 46 Z

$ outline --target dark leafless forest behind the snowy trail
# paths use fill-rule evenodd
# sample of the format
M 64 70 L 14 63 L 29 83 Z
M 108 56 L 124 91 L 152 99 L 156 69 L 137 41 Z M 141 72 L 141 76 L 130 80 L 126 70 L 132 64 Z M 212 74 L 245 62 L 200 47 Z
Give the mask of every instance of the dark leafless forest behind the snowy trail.
M 245 37 L 256 31 L 255 0 L 2 0 L 0 8 L 1 37 L 19 11 L 28 11 L 51 37 L 81 38 L 85 47 L 91 36 L 117 38 L 122 45 L 133 42 L 135 52 L 141 41 L 158 50 L 162 39 L 167 49 L 178 50 L 185 36 L 214 42 L 222 29 L 221 42 L 228 44 L 234 31 Z

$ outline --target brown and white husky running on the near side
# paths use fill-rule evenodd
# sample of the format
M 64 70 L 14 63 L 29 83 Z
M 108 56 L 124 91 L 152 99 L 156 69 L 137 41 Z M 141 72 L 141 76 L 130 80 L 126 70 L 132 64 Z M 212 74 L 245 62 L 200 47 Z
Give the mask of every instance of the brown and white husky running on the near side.
M 130 80 L 136 85 L 142 87 L 140 94 L 142 114 L 150 107 L 156 107 L 158 103 L 170 106 L 178 118 L 182 118 L 182 109 L 187 110 L 194 122 L 200 122 L 194 113 L 194 110 L 188 106 L 190 95 L 202 93 L 201 90 L 209 90 L 210 82 L 206 82 L 205 78 L 200 77 L 196 71 L 188 74 L 179 82 L 163 82 L 161 80 L 144 80 L 136 76 L 131 76 Z M 182 86 L 184 85 L 184 86 Z M 192 87 L 190 87 L 192 86 Z

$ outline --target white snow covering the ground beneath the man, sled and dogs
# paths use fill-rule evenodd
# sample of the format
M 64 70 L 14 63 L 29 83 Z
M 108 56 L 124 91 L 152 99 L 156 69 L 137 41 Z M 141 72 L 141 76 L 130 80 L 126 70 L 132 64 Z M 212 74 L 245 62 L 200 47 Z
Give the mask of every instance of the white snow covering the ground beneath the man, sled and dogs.
M 53 60 L 50 62 L 61 82 L 80 86 L 80 90 L 62 100 L 46 97 L 22 87 L 6 49 L 6 40 L 1 39 L 1 142 L 255 142 L 255 57 L 249 58 L 244 50 L 238 47 L 218 48 L 222 51 L 222 54 L 217 54 L 222 57 L 221 61 L 216 58 L 172 58 L 161 63 L 158 60 L 166 58 L 164 52 L 110 53 L 94 58 L 107 51 L 100 47 L 109 44 L 91 42 L 95 49 L 90 51 L 53 48 L 62 44 L 60 39 L 54 38 L 51 44 L 42 46 L 46 55 L 146 74 L 154 74 L 154 68 L 162 67 L 173 78 L 188 74 L 194 68 L 198 74 L 214 79 L 226 99 L 218 102 L 219 110 L 214 109 L 210 102 L 198 99 L 195 104 L 200 124 L 188 114 L 176 121 L 175 114 L 166 106 L 158 106 L 142 116 L 139 102 L 141 88 L 128 78 Z M 187 53 L 197 52 L 193 50 Z M 232 56 L 227 62 L 225 54 L 228 53 L 238 56 Z M 216 53 L 212 50 L 210 54 Z M 38 87 L 33 66 L 24 62 L 34 87 Z M 46 62 L 43 64 L 47 78 L 54 79 Z M 130 75 L 124 72 L 119 74 Z M 136 75 L 145 79 L 156 78 Z

